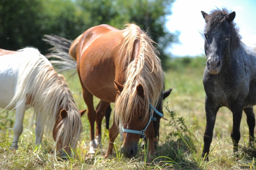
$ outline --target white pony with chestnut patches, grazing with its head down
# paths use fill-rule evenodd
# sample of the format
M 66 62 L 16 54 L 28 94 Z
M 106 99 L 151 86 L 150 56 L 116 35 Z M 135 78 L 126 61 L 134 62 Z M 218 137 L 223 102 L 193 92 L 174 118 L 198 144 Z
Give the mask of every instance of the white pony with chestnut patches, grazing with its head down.
M 70 147 L 76 149 L 82 132 L 80 117 L 85 110 L 79 112 L 64 76 L 34 48 L 0 49 L 0 61 L 0 107 L 15 109 L 11 148 L 18 148 L 25 111 L 34 107 L 36 144 L 42 142 L 46 128 L 48 133 L 52 130 L 61 156 L 71 155 Z

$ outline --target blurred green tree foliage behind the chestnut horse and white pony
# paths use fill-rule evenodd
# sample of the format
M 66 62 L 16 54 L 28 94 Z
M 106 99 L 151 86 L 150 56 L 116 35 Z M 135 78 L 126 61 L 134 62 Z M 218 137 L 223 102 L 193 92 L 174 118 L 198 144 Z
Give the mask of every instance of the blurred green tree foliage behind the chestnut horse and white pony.
M 109 24 L 119 29 L 134 22 L 157 43 L 160 58 L 177 36 L 168 32 L 166 15 L 173 0 L 1 0 L 0 48 L 17 50 L 34 46 L 46 52 L 44 34 L 75 39 L 86 29 Z

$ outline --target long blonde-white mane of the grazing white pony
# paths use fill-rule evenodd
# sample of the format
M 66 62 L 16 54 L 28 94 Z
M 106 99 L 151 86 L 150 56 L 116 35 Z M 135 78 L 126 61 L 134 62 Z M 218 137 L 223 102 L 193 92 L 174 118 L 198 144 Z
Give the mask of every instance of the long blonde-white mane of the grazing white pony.
M 79 110 L 64 76 L 56 73 L 51 63 L 38 50 L 25 48 L 20 51 L 26 52 L 28 57 L 24 58 L 17 70 L 18 80 L 15 95 L 6 108 L 22 102 L 34 107 L 36 124 L 43 127 L 39 129 L 41 135 L 44 133 L 44 128 L 46 132 L 52 132 L 60 110 L 66 109 L 68 114 L 60 122 L 56 143 L 61 137 L 63 146 L 70 144 L 72 148 L 76 149 L 76 141 L 79 140 L 82 132 L 82 123 Z

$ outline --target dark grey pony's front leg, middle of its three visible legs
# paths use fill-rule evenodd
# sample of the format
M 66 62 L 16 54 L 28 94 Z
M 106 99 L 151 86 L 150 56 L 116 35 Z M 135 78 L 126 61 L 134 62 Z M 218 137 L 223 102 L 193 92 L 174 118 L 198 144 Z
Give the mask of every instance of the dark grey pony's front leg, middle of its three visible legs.
M 239 102 L 233 102 L 233 105 L 230 109 L 233 113 L 233 128 L 231 131 L 231 138 L 233 141 L 234 146 L 234 153 L 238 152 L 238 142 L 240 140 L 240 123 L 242 119 L 242 113 L 243 113 L 243 104 Z M 238 156 L 238 155 L 236 155 Z

